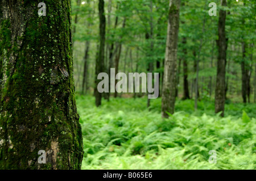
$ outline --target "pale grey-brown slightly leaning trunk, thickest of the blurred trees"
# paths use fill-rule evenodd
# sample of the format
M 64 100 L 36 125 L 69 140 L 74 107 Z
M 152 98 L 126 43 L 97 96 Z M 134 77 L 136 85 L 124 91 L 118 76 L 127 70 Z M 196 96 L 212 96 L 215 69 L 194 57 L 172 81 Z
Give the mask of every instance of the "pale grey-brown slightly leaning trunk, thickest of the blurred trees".
M 169 117 L 168 113 L 174 113 L 179 10 L 180 0 L 170 0 L 166 58 L 164 61 L 162 117 Z

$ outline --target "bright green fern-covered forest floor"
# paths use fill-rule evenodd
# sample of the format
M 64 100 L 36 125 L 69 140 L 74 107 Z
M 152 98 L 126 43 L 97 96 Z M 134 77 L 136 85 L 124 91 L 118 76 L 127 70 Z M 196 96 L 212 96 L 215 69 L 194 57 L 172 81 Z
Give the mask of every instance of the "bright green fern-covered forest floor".
M 82 169 L 256 169 L 256 104 L 177 100 L 176 113 L 162 120 L 161 99 L 117 98 L 94 106 L 77 95 L 84 137 Z M 210 150 L 217 153 L 209 163 Z

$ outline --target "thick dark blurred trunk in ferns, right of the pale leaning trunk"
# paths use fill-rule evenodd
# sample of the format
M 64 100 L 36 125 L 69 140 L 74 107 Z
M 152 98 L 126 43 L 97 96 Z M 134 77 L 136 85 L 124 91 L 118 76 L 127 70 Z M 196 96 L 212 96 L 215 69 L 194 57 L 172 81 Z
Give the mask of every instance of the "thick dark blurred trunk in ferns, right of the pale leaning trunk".
M 226 6 L 226 0 L 221 1 L 221 6 Z M 218 62 L 215 89 L 215 112 L 224 116 L 225 107 L 225 74 L 226 74 L 226 48 L 228 47 L 225 33 L 226 11 L 220 10 L 218 18 Z

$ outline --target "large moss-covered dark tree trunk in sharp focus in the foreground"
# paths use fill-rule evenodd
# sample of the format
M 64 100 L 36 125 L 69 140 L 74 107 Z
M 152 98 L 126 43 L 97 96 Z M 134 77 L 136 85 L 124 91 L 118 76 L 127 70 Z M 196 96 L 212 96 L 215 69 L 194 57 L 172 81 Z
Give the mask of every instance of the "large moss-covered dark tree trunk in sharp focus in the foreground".
M 0 169 L 81 168 L 71 2 L 44 3 L 0 1 Z

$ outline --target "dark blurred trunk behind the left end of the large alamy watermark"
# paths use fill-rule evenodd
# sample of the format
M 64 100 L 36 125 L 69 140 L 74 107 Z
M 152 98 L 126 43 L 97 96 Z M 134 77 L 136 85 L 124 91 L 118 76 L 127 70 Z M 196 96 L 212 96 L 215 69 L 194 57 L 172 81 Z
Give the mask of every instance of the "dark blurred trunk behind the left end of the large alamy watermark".
M 98 58 L 96 61 L 96 84 L 94 88 L 95 98 L 96 98 L 96 106 L 101 105 L 102 94 L 98 92 L 97 86 L 101 80 L 97 79 L 98 74 L 104 71 L 104 49 L 105 49 L 105 35 L 106 35 L 106 17 L 104 14 L 104 0 L 99 0 L 98 3 L 98 11 L 100 16 L 100 48 L 98 51 Z

